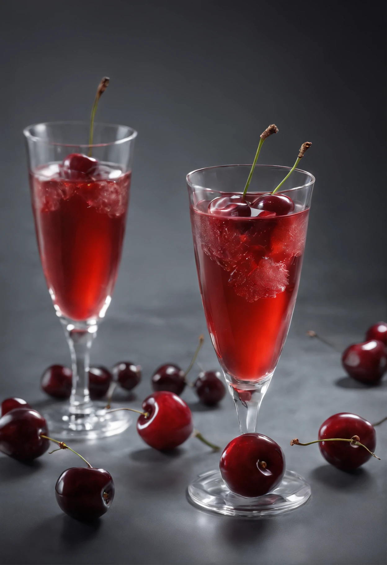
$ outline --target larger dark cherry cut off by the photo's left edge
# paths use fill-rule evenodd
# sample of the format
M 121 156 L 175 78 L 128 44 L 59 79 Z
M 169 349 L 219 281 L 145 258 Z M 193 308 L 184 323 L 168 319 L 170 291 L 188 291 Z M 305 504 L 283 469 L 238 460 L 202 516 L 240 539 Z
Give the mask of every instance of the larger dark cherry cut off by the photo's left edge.
M 48 436 L 46 420 L 32 408 L 14 408 L 0 418 L 0 451 L 28 461 L 36 459 L 48 450 L 50 441 L 40 437 Z

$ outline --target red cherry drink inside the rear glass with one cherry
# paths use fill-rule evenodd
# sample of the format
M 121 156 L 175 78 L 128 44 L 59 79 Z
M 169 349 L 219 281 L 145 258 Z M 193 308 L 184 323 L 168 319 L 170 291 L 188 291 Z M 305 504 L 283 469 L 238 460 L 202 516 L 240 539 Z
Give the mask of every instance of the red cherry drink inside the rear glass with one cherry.
M 131 173 L 101 164 L 68 180 L 51 163 L 29 173 L 40 258 L 58 315 L 104 315 L 117 279 Z

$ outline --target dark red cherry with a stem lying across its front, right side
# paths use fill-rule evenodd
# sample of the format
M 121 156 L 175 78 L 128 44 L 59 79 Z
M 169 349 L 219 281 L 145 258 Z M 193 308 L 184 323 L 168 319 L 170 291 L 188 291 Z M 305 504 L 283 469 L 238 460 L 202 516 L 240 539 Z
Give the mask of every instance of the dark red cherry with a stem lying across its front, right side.
M 356 414 L 346 412 L 334 414 L 325 420 L 319 429 L 319 440 L 332 437 L 350 440 L 353 436 L 359 436 L 361 444 L 368 447 L 370 451 L 375 451 L 375 428 L 369 421 Z M 364 447 L 352 445 L 349 441 L 322 441 L 319 447 L 322 456 L 328 463 L 342 471 L 357 469 L 372 457 Z

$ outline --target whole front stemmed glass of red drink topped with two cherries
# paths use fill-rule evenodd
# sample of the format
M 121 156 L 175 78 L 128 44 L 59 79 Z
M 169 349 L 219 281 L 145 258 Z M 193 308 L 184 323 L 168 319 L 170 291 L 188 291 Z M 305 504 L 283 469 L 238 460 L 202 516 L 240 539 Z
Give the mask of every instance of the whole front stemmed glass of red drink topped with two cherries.
M 295 169 L 282 185 L 295 210 L 251 217 L 209 214 L 214 198 L 242 195 L 250 165 L 199 169 L 187 175 L 197 275 L 205 318 L 226 383 L 237 407 L 242 433 L 256 432 L 257 415 L 268 389 L 293 315 L 309 206 L 315 179 Z M 290 168 L 256 166 L 247 202 L 272 190 Z M 231 493 L 220 472 L 209 471 L 188 492 L 200 506 L 221 514 L 280 514 L 310 496 L 309 485 L 286 471 L 274 493 L 249 499 Z

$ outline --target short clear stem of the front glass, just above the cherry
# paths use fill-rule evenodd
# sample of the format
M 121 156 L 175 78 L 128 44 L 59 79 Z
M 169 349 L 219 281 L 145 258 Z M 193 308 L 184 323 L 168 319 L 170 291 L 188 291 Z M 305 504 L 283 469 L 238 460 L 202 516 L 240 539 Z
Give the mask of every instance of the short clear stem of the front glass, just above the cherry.
M 261 383 L 254 383 L 252 385 L 229 385 L 231 397 L 233 397 L 235 407 L 237 408 L 241 433 L 253 433 L 257 431 L 259 408 L 271 380 L 272 375 L 269 375 Z

